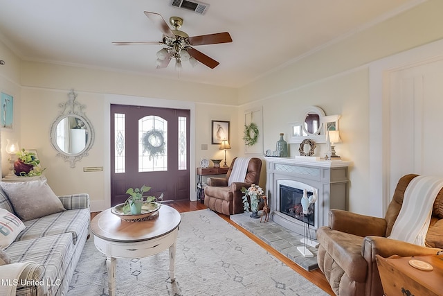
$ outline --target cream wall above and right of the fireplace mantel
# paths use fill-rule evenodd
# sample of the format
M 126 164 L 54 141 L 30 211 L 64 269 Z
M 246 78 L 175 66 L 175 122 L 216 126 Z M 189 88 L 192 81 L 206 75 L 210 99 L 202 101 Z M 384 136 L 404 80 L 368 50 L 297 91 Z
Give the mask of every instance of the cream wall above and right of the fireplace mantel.
M 369 63 L 442 39 L 442 10 L 443 1 L 426 1 L 275 70 L 239 89 L 239 103 L 244 106 L 239 112 L 263 105 L 265 150 L 275 149 L 278 133 L 288 132 L 287 123 L 300 119 L 306 106 L 318 105 L 327 115 L 341 114 L 343 143 L 336 145 L 336 152 L 354 163 L 350 211 L 372 214 L 368 196 Z M 317 155 L 325 150 L 324 144 L 319 146 Z M 298 155 L 298 145 L 291 145 L 290 153 Z

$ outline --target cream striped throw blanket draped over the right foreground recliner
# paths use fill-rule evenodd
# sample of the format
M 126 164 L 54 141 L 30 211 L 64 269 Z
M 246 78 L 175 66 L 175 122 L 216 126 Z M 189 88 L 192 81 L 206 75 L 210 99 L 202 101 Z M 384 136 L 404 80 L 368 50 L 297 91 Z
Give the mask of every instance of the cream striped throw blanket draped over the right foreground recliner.
M 442 177 L 421 175 L 411 180 L 389 238 L 424 246 L 433 204 L 442 187 Z

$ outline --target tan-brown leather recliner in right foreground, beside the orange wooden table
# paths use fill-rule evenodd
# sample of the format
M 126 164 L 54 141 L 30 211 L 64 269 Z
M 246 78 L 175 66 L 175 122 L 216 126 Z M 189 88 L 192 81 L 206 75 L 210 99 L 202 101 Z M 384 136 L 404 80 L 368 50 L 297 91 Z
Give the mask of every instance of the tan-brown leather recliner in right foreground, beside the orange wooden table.
M 375 255 L 417 256 L 437 254 L 443 249 L 443 189 L 435 198 L 426 247 L 390 238 L 410 180 L 401 177 L 385 218 L 363 216 L 348 211 L 330 210 L 329 227 L 317 231 L 318 267 L 336 295 L 383 295 Z

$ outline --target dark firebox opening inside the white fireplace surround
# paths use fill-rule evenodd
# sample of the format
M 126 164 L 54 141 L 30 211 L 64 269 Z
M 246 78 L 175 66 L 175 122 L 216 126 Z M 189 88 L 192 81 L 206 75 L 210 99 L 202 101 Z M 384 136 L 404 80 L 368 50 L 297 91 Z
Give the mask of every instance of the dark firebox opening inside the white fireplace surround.
M 307 197 L 313 193 L 307 191 Z M 309 204 L 307 214 L 303 214 L 302 200 L 303 190 L 280 184 L 280 212 L 296 218 L 309 225 L 315 226 L 315 204 Z

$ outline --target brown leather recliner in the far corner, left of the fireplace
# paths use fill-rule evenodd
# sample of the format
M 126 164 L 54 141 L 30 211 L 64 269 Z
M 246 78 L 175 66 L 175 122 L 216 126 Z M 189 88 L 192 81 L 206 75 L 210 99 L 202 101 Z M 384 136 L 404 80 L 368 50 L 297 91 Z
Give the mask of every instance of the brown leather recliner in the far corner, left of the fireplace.
M 228 186 L 228 180 L 236 159 L 237 157 L 230 164 L 226 178 L 211 177 L 208 179 L 208 186 L 205 188 L 206 207 L 225 215 L 243 213 L 242 196 L 244 194 L 240 189 L 242 187 L 248 188 L 251 184 L 258 184 L 260 171 L 262 170 L 262 159 L 252 157 L 249 160 L 244 182 L 233 182 Z

